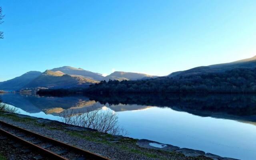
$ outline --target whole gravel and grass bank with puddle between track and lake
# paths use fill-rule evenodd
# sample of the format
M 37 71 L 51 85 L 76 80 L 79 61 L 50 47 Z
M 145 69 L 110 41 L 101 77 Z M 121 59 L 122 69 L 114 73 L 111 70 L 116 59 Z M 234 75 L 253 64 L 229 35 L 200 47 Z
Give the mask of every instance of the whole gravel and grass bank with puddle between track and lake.
M 21 114 L 0 113 L 0 120 L 106 156 L 112 160 L 235 160 L 210 153 L 206 154 L 199 150 L 105 134 L 90 128 Z M 0 155 L 7 159 L 29 158 L 29 155 L 19 154 L 17 148 L 13 150 L 10 149 L 11 147 L 11 144 L 8 144 L 6 140 L 0 140 Z

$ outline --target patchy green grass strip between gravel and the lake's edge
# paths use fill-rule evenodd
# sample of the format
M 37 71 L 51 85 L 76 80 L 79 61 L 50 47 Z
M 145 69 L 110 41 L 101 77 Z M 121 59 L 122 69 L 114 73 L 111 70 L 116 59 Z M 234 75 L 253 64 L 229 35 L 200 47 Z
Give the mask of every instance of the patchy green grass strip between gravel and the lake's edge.
M 61 131 L 65 134 L 68 134 L 72 137 L 78 137 L 86 141 L 95 142 L 98 144 L 104 144 L 112 148 L 116 148 L 126 154 L 139 154 L 141 156 L 146 156 L 148 158 L 156 158 L 159 160 L 169 160 L 170 158 L 184 159 L 185 156 L 178 152 L 172 151 L 163 151 L 163 150 L 153 150 L 148 148 L 141 148 L 136 145 L 138 139 L 128 138 L 123 136 L 114 136 L 111 134 L 106 134 L 98 131 L 84 130 L 70 130 L 67 127 L 70 127 L 68 124 L 61 122 L 50 121 L 50 122 L 40 122 L 36 118 L 30 117 L 19 117 L 17 114 L 5 114 L 0 113 L 0 117 L 11 119 L 15 122 L 21 122 L 35 127 L 45 128 L 47 130 L 56 130 Z M 72 126 L 74 127 L 74 126 Z M 115 149 L 115 150 L 116 150 Z M 198 157 L 186 157 L 186 160 L 211 160 L 211 158 L 206 158 L 204 156 Z

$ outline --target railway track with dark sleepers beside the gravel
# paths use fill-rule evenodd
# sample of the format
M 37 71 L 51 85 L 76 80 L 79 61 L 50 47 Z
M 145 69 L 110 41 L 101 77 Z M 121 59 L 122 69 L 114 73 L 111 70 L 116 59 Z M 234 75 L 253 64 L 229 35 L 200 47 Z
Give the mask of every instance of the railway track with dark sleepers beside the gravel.
M 23 153 L 38 152 L 40 155 L 34 156 L 34 160 L 110 160 L 87 150 L 82 150 L 75 146 L 42 136 L 24 128 L 0 121 L 0 133 L 8 139 L 13 147 L 24 147 Z

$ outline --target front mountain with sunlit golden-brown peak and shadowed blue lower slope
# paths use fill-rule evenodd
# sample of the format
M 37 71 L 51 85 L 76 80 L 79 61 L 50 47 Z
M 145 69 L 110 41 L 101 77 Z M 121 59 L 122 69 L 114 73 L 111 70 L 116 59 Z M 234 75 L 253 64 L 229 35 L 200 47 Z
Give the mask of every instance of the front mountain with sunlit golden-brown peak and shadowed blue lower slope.
M 85 87 L 98 83 L 96 80 L 88 79 L 79 75 L 64 74 L 61 71 L 46 70 L 40 76 L 29 82 L 25 88 L 72 88 Z

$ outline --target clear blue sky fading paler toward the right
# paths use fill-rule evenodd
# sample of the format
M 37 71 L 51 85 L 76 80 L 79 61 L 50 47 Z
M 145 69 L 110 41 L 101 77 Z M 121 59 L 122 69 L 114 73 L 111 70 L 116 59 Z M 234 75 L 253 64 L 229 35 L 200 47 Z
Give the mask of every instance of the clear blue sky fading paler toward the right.
M 255 0 L 1 0 L 0 81 L 60 66 L 164 76 L 256 55 Z

